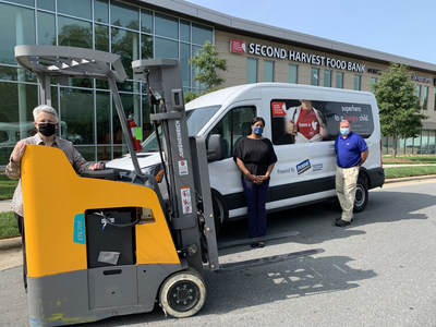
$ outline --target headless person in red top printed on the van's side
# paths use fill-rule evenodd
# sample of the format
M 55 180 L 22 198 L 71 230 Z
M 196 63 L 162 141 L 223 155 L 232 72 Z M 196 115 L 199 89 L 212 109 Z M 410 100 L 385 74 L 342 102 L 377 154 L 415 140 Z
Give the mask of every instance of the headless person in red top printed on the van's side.
M 300 102 L 300 106 L 287 110 L 286 132 L 295 136 L 294 143 L 323 141 L 327 137 L 327 128 L 319 110 L 312 107 L 311 100 Z

